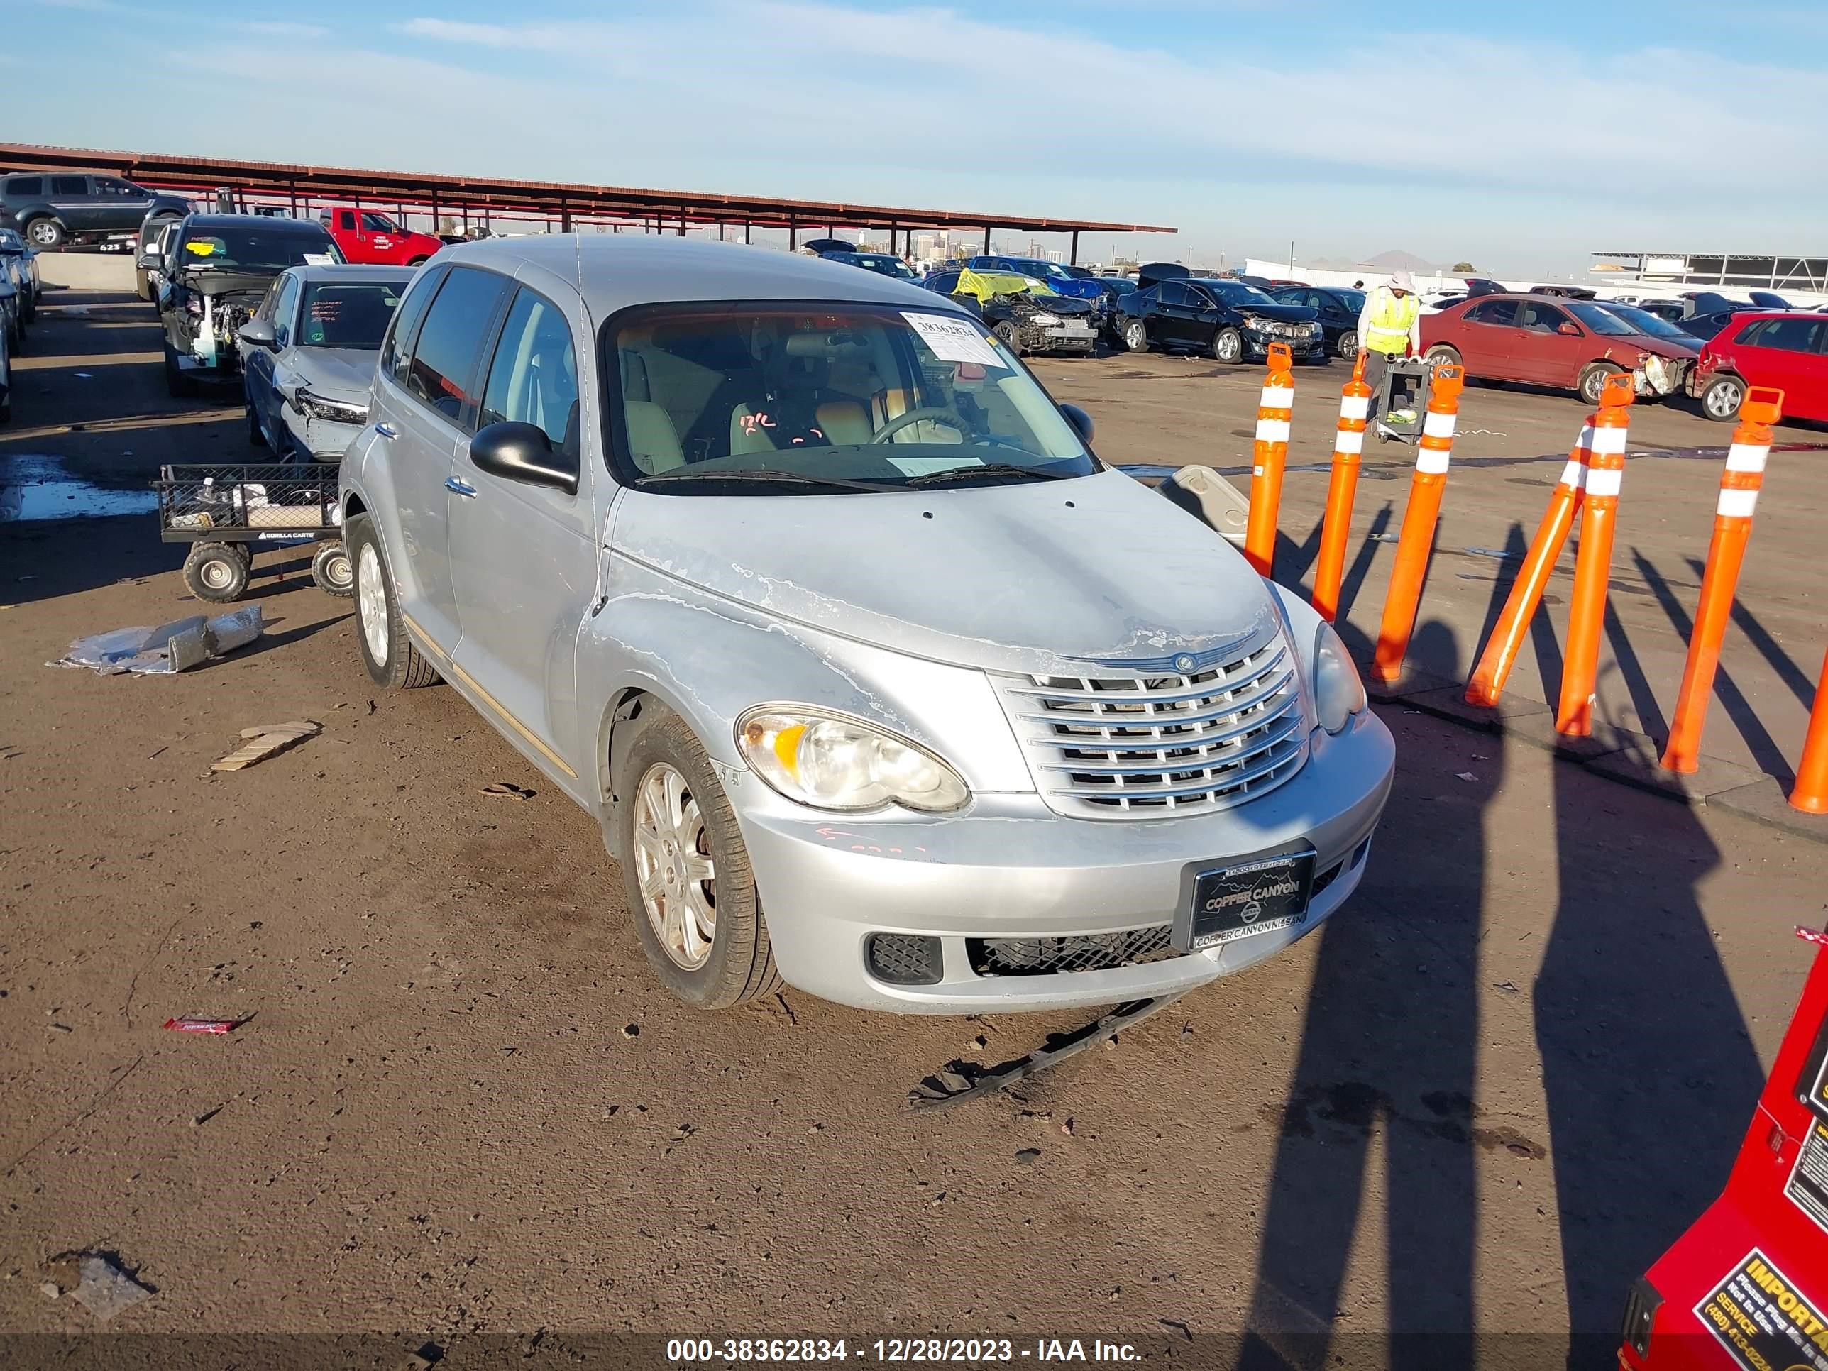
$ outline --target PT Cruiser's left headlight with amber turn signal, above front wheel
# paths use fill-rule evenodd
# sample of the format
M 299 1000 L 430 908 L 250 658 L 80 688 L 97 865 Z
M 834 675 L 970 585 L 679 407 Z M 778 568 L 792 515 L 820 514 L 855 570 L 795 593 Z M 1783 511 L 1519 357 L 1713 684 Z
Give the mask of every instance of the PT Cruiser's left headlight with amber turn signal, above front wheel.
M 846 715 L 759 706 L 737 720 L 737 749 L 790 801 L 815 810 L 958 810 L 971 790 L 925 748 Z

